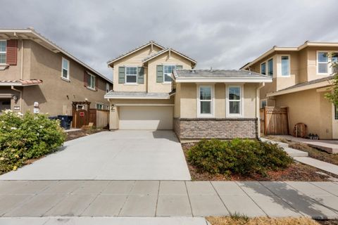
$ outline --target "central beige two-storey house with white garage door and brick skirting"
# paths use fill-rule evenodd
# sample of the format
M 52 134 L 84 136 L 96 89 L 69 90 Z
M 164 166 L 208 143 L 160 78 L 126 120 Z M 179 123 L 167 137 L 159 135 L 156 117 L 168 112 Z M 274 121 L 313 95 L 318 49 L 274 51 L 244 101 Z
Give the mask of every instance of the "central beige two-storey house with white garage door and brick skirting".
M 196 61 L 150 41 L 108 61 L 111 129 L 174 129 L 181 141 L 258 137 L 259 91 L 268 76 L 194 70 Z

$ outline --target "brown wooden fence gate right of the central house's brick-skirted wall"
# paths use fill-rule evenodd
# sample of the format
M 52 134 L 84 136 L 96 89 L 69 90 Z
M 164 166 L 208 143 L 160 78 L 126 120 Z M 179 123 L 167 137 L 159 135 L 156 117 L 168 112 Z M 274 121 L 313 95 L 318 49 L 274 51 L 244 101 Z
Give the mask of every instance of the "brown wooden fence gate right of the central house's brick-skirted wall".
M 261 132 L 265 135 L 288 135 L 287 107 L 265 106 L 261 109 Z

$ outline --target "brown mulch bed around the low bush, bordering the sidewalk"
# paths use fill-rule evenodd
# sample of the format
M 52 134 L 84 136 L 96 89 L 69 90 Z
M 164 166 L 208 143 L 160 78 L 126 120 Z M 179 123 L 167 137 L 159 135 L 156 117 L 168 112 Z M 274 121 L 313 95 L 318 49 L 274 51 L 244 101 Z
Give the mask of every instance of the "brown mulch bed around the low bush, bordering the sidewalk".
M 194 146 L 194 143 L 182 143 L 183 152 L 187 160 L 187 150 Z M 190 165 L 187 160 L 190 176 L 194 181 L 331 181 L 329 175 L 325 175 L 320 169 L 294 162 L 289 168 L 282 171 L 268 172 L 267 176 L 255 174 L 252 176 L 211 174 L 201 172 L 200 169 Z M 319 173 L 318 173 L 319 172 Z M 326 173 L 327 174 L 327 173 Z M 333 176 L 333 174 L 330 174 Z M 338 176 L 334 176 L 338 178 Z

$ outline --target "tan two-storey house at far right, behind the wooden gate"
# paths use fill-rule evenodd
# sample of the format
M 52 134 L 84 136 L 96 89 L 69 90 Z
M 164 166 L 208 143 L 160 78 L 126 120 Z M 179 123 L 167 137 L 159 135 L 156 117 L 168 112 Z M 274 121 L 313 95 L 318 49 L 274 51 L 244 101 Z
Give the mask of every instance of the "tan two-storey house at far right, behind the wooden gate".
M 324 97 L 337 61 L 338 43 L 306 41 L 299 47 L 274 46 L 241 69 L 273 78 L 261 89 L 261 108 L 288 107 L 290 134 L 303 122 L 320 139 L 338 139 L 338 109 Z

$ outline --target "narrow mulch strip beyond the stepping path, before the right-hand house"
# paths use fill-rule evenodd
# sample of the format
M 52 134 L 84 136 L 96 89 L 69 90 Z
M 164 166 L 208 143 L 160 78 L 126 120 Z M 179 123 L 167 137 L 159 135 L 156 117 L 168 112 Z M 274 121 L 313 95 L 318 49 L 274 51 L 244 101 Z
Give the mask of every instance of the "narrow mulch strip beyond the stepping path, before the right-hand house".
M 334 165 L 338 165 L 338 154 L 327 153 L 318 148 L 310 147 L 306 143 L 288 141 L 287 139 L 283 139 L 277 136 L 267 136 L 266 138 L 273 140 L 273 141 L 281 141 L 284 143 L 288 143 L 290 148 L 294 148 L 297 150 L 302 150 L 304 152 L 307 152 L 308 156 L 311 158 L 314 158 L 316 160 L 321 160 L 324 162 L 328 162 L 328 163 L 332 163 Z

